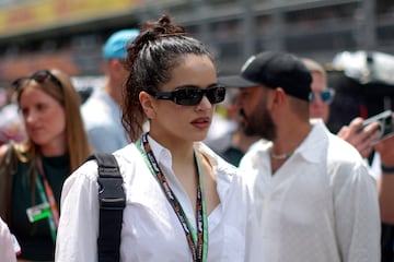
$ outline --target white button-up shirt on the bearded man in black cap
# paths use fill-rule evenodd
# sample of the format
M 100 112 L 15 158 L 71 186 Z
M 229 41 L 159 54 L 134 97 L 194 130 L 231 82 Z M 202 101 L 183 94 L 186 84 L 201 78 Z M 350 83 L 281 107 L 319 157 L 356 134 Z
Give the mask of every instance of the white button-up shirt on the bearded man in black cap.
M 240 168 L 254 186 L 264 259 L 269 262 L 378 262 L 375 181 L 358 152 L 322 121 L 273 175 L 258 142 Z

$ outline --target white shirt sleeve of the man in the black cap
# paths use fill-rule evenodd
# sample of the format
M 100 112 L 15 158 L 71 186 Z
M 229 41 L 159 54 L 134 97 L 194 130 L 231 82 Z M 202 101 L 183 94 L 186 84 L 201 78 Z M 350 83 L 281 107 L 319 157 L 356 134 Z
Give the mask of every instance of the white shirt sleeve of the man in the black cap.
M 339 252 L 344 262 L 379 262 L 381 225 L 375 181 L 364 165 L 355 166 L 352 174 L 337 184 L 334 194 Z

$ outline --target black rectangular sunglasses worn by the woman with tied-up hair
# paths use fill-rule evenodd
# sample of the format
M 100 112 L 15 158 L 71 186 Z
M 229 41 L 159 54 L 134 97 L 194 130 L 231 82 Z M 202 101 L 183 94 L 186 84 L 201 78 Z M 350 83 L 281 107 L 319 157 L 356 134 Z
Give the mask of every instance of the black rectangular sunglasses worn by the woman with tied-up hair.
M 196 106 L 204 96 L 207 96 L 210 104 L 217 104 L 224 100 L 225 88 L 215 85 L 206 90 L 196 86 L 184 86 L 172 92 L 149 92 L 157 99 L 172 100 L 182 106 Z

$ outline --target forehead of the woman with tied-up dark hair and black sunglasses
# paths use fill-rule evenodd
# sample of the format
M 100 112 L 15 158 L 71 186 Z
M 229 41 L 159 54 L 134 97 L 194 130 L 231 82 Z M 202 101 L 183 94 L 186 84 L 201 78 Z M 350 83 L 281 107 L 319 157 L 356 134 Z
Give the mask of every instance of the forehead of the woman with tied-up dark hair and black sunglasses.
M 164 88 L 174 90 L 183 85 L 207 87 L 215 83 L 217 83 L 217 71 L 211 59 L 208 56 L 186 55 L 171 70 L 171 80 Z

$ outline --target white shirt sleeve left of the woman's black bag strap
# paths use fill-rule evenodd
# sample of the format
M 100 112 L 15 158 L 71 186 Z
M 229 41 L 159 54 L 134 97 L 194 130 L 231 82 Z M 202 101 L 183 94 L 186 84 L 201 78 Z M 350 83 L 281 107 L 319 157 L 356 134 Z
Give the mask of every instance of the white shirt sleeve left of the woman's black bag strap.
M 56 241 L 57 262 L 97 261 L 99 186 L 94 176 L 96 170 L 94 162 L 86 163 L 65 182 Z

